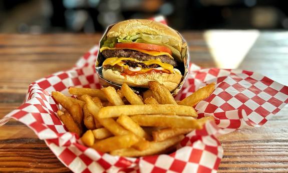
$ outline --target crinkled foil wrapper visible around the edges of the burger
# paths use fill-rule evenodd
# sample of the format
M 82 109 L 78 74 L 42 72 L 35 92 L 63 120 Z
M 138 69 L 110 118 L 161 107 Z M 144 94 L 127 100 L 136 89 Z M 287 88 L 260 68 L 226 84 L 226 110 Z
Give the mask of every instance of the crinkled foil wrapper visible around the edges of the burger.
M 100 42 L 99 42 L 99 48 L 101 48 L 101 46 L 103 45 L 104 43 L 104 40 L 106 39 L 106 35 L 107 35 L 107 32 L 114 26 L 115 24 L 113 25 L 110 25 L 109 27 L 107 27 L 104 35 L 102 36 Z M 178 33 L 178 32 L 177 32 Z M 181 34 L 178 33 L 180 36 Z M 182 60 L 183 60 L 183 65 L 181 65 L 181 67 L 177 67 L 177 69 L 180 70 L 181 74 L 184 74 L 182 79 L 181 79 L 181 82 L 179 84 L 179 86 L 171 93 L 172 95 L 176 95 L 180 89 L 182 88 L 186 78 L 187 78 L 187 75 L 188 75 L 188 67 L 189 67 L 189 51 L 188 51 L 188 47 L 187 47 L 187 42 L 184 40 L 184 38 L 181 36 L 182 38 L 182 44 L 184 45 L 184 49 L 182 49 L 181 51 L 181 56 L 182 56 Z M 99 78 L 99 82 L 102 86 L 113 86 L 115 88 L 120 88 L 121 85 L 119 84 L 116 84 L 116 83 L 113 83 L 109 80 L 106 80 L 104 79 L 103 77 L 103 74 L 102 74 L 102 64 L 104 62 L 105 58 L 101 55 L 101 53 L 99 52 L 98 53 L 98 57 L 96 59 L 96 64 L 95 64 L 95 69 L 96 69 L 96 73 L 98 75 L 98 78 Z M 142 92 L 142 91 L 145 91 L 147 90 L 147 88 L 140 88 L 140 87 L 131 87 L 135 92 Z

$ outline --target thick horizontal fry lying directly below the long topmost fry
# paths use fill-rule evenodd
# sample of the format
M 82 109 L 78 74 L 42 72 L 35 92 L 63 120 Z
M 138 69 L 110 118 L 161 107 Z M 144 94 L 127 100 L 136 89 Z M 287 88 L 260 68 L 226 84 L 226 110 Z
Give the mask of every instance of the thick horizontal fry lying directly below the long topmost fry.
M 131 119 L 140 126 L 173 127 L 173 128 L 201 128 L 197 119 L 177 115 L 133 115 Z

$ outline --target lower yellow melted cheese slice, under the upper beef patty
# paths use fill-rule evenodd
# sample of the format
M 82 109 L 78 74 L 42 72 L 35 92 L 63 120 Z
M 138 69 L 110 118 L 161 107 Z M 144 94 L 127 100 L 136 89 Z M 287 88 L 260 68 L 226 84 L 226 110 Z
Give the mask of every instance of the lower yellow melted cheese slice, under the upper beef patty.
M 129 61 L 135 61 L 135 62 L 141 62 L 144 63 L 146 65 L 151 65 L 151 64 L 158 64 L 159 66 L 163 67 L 164 69 L 169 70 L 171 73 L 173 73 L 173 69 L 174 67 L 170 64 L 167 63 L 162 63 L 159 59 L 157 60 L 148 60 L 148 61 L 138 61 L 134 58 L 117 58 L 117 57 L 113 57 L 113 58 L 107 58 L 104 62 L 103 62 L 103 66 L 104 65 L 119 65 L 119 66 L 123 66 L 125 63 L 122 62 L 123 60 L 129 60 Z

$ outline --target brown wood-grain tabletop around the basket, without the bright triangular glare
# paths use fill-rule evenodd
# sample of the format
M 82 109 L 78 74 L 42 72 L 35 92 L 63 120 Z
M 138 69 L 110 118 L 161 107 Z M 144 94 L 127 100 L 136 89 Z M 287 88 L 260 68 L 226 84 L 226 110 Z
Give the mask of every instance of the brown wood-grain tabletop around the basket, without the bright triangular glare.
M 245 31 L 241 33 L 245 35 Z M 203 33 L 183 32 L 183 36 L 194 63 L 216 66 Z M 0 35 L 0 117 L 21 105 L 31 82 L 69 69 L 100 37 L 101 34 Z M 287 32 L 260 33 L 239 68 L 288 85 L 287 40 Z M 287 124 L 288 106 L 263 127 L 246 127 L 221 136 L 224 157 L 218 171 L 288 172 Z M 31 129 L 11 120 L 0 127 L 0 171 L 69 172 L 69 169 Z

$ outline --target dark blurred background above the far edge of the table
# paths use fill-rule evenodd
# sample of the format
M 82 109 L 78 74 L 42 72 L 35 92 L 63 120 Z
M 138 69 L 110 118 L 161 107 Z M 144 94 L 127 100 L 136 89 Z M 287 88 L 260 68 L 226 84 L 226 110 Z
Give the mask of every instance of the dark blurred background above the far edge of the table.
M 0 33 L 94 33 L 118 21 L 156 15 L 179 31 L 288 29 L 288 1 L 0 0 Z

